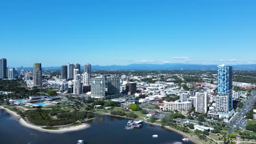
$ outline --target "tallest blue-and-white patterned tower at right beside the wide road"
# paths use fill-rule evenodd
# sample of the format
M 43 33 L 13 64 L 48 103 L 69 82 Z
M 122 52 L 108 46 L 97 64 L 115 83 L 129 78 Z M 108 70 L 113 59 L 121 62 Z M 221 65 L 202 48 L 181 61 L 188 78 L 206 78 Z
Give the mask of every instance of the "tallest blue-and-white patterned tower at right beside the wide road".
M 218 66 L 218 95 L 216 110 L 228 113 L 233 109 L 232 101 L 232 67 L 224 64 Z

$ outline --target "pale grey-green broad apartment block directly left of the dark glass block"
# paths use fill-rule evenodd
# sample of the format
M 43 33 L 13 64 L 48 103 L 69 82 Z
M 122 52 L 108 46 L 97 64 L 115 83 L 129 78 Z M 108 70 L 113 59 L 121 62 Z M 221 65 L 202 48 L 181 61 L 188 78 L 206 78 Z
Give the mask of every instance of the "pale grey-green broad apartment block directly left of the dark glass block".
M 105 78 L 96 77 L 91 79 L 91 97 L 105 97 Z

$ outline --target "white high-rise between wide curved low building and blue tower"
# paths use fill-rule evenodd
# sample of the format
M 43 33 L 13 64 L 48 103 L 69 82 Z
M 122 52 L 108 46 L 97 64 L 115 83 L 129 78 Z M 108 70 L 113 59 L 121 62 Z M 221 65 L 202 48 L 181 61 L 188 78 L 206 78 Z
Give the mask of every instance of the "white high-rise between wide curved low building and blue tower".
M 196 92 L 196 112 L 207 112 L 207 92 Z

